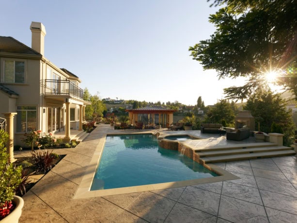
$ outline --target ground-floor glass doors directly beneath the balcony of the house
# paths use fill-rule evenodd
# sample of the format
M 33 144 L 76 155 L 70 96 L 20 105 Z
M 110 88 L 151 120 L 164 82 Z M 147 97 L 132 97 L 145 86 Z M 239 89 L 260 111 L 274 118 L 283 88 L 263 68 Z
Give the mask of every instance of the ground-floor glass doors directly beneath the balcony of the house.
M 47 107 L 47 132 L 55 133 L 64 130 L 63 108 L 58 106 Z

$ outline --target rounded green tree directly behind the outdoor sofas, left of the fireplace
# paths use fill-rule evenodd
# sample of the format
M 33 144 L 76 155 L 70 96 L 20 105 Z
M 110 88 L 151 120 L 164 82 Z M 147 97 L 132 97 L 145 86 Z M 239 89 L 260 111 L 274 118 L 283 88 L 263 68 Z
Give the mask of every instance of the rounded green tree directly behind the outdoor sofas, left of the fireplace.
M 231 104 L 227 100 L 219 100 L 217 104 L 211 107 L 206 113 L 206 122 L 210 123 L 221 123 L 222 120 L 225 120 L 227 124 L 234 123 L 234 112 L 231 107 Z

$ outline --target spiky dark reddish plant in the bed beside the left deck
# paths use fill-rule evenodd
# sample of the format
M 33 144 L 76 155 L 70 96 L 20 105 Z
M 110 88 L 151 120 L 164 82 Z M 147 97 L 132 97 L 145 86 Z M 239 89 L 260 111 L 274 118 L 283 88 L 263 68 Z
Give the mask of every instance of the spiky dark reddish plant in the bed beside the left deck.
M 56 159 L 55 155 L 51 152 L 48 152 L 47 149 L 38 149 L 36 151 L 31 151 L 32 154 L 32 164 L 36 167 L 36 173 L 46 173 L 48 170 L 51 170 L 54 160 Z

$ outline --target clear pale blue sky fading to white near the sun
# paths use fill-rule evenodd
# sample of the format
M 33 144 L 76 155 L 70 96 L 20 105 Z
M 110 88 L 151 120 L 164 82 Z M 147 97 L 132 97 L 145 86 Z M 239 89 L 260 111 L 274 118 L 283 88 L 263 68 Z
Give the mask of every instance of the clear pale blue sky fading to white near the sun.
M 207 0 L 1 0 L 0 35 L 31 47 L 31 22 L 41 22 L 45 57 L 76 74 L 102 99 L 205 105 L 244 79 L 218 79 L 193 60 L 189 46 L 209 39 Z M 3 22 L 5 21 L 5 22 Z

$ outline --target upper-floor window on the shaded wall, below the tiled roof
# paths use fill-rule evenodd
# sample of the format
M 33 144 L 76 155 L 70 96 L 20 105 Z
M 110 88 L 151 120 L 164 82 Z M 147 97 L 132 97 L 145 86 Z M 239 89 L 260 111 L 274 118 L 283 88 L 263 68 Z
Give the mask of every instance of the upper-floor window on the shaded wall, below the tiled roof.
M 25 61 L 4 60 L 4 83 L 25 83 Z

